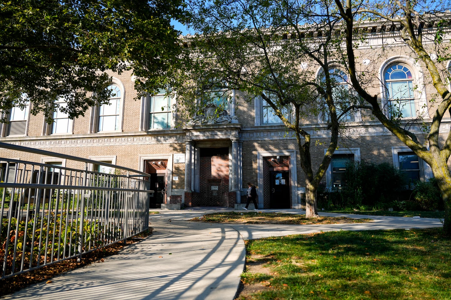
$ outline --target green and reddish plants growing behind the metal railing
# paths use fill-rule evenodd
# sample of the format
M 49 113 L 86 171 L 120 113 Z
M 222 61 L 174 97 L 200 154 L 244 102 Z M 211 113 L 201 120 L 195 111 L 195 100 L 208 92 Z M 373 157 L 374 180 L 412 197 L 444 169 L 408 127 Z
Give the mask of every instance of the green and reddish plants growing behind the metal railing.
M 67 222 L 64 214 L 55 215 L 53 213 L 45 218 L 32 219 L 28 223 L 25 220 L 18 221 L 17 218 L 12 218 L 7 241 L 8 219 L 3 218 L 0 232 L 0 253 L 7 252 L 6 274 L 13 271 L 13 265 L 17 271 L 22 259 L 25 264 L 35 267 L 59 258 L 77 255 L 80 224 L 80 218 Z M 98 220 L 83 220 L 82 226 L 84 235 L 82 252 L 106 245 L 110 241 L 117 241 L 122 234 L 119 227 L 105 228 Z M 15 261 L 13 261 L 14 251 L 16 251 Z M 1 255 L 0 265 L 3 263 L 4 255 Z

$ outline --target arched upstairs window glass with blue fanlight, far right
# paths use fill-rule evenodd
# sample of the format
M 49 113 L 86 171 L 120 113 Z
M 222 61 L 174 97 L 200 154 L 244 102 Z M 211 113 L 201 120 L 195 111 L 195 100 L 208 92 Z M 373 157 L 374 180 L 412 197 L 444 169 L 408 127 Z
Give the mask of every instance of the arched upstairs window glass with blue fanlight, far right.
M 385 71 L 384 79 L 391 117 L 416 117 L 414 83 L 409 68 L 401 64 L 393 65 Z

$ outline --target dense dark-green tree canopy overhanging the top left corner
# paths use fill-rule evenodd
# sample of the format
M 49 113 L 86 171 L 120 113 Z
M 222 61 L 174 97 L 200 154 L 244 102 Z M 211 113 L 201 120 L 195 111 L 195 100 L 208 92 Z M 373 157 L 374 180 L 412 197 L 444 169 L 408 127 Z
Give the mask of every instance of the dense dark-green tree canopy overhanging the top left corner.
M 107 102 L 108 70 L 133 70 L 139 95 L 163 86 L 180 53 L 170 19 L 183 18 L 182 3 L 1 1 L 0 110 L 30 100 L 32 114 L 43 111 L 51 122 L 49 102 L 64 97 L 61 111 L 75 118 Z

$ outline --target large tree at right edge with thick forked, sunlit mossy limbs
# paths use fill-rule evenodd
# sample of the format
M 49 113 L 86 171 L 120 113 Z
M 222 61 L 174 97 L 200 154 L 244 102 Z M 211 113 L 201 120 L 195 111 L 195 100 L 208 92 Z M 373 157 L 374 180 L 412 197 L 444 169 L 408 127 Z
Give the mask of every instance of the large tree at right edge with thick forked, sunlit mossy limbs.
M 401 0 L 344 2 L 335 0 L 336 9 L 344 21 L 347 66 L 354 89 L 371 105 L 373 115 L 400 141 L 431 166 L 445 206 L 444 232 L 451 235 L 451 175 L 448 160 L 451 155 L 451 132 L 440 134 L 443 118 L 451 110 L 450 71 L 446 61 L 451 59 L 449 39 L 451 13 L 449 1 Z M 387 116 L 378 95 L 371 95 L 359 68 L 356 66 L 356 40 L 365 41 L 368 36 L 356 33 L 362 20 L 377 20 L 399 28 L 394 38 L 412 50 L 412 55 L 428 70 L 429 78 L 437 92 L 437 99 L 429 99 L 431 111 L 424 121 L 425 134 L 418 135 L 408 122 Z M 435 24 L 428 28 L 430 24 Z M 433 52 L 433 55 L 430 53 Z M 437 58 L 437 59 L 436 59 Z M 366 76 L 368 77 L 368 75 Z M 430 117 L 429 117 L 430 116 Z M 425 138 L 424 138 L 425 136 Z

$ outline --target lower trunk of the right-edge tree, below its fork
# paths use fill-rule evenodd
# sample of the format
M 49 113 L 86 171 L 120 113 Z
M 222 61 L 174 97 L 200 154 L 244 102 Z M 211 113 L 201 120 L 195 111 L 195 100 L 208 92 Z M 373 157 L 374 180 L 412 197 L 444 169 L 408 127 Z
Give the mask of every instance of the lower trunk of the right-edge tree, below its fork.
M 443 222 L 443 233 L 451 236 L 451 175 L 448 165 L 441 159 L 435 159 L 431 165 L 432 173 L 437 179 L 438 188 L 445 205 L 445 220 Z

